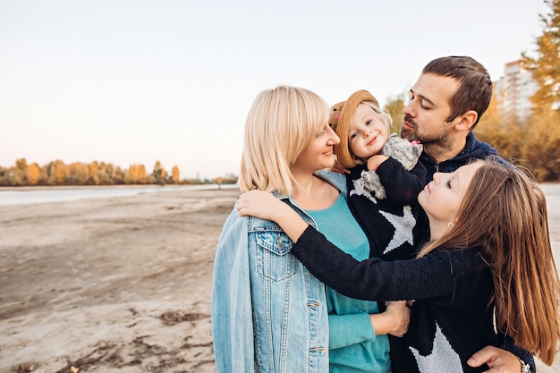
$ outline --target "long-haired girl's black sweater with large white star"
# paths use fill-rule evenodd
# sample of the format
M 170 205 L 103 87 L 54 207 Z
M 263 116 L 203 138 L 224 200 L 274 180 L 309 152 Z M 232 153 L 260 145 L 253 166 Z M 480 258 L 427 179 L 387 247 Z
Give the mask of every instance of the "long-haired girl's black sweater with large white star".
M 420 259 L 358 261 L 310 226 L 291 252 L 320 281 L 346 296 L 415 300 L 402 345 L 391 344 L 393 373 L 488 369 L 466 363 L 474 352 L 498 343 L 487 310 L 494 283 L 478 249 L 436 249 Z

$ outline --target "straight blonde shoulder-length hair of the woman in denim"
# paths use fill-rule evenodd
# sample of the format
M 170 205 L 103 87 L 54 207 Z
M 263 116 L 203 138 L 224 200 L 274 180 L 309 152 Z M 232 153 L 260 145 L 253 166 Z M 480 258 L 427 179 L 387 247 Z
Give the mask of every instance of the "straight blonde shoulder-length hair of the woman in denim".
M 245 123 L 241 190 L 292 194 L 290 166 L 325 128 L 328 114 L 327 102 L 308 89 L 278 86 L 262 91 Z

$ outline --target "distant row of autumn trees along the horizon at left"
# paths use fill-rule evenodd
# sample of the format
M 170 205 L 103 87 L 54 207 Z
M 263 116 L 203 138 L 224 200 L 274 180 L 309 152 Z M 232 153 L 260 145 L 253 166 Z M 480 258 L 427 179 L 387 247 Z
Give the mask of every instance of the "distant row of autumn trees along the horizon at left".
M 53 185 L 134 185 L 134 184 L 195 184 L 234 183 L 233 175 L 215 179 L 181 179 L 179 167 L 173 166 L 170 173 L 159 161 L 148 174 L 144 165 L 131 165 L 123 169 L 111 163 L 94 161 L 90 164 L 74 162 L 69 165 L 61 160 L 47 165 L 28 164 L 25 158 L 9 167 L 0 166 L 0 186 L 53 186 Z

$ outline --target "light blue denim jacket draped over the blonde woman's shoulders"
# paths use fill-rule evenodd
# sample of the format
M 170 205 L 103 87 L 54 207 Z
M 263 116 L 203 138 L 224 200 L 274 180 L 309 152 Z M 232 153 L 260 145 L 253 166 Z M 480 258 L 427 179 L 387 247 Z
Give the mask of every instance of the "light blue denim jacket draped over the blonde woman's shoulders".
M 346 192 L 342 174 L 320 173 Z M 310 225 L 315 222 L 290 196 Z M 290 253 L 276 223 L 253 216 L 225 220 L 216 248 L 212 335 L 218 373 L 328 372 L 325 285 Z

